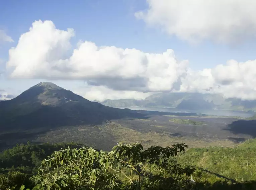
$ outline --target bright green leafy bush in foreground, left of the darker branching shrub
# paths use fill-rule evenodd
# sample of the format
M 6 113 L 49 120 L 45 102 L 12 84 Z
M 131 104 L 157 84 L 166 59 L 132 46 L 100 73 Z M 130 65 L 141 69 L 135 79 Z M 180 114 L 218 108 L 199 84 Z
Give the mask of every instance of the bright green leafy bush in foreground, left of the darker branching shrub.
M 88 147 L 56 151 L 41 162 L 31 178 L 34 189 L 111 189 L 117 176 L 106 172 L 107 164 L 99 163 L 105 155 Z

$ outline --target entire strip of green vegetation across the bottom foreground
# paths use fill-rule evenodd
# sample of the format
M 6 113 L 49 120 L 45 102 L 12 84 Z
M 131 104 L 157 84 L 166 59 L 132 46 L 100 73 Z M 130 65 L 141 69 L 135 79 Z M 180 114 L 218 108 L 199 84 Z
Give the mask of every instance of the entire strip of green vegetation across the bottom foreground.
M 0 154 L 0 189 L 256 189 L 255 139 L 234 148 L 187 148 L 17 144 Z

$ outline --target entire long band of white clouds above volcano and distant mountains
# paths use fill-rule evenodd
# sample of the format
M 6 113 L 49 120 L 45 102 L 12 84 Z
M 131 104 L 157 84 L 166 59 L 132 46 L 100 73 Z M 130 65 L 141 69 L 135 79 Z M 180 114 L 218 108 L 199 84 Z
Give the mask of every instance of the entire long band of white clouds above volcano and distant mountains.
M 74 35 L 73 29 L 56 29 L 52 21 L 35 21 L 20 36 L 17 46 L 9 50 L 6 66 L 10 77 L 86 81 L 90 90 L 85 97 L 101 97 L 101 100 L 118 96 L 144 98 L 163 91 L 256 98 L 256 60 L 243 63 L 229 60 L 214 68 L 193 71 L 188 61 L 177 60 L 171 49 L 154 54 L 99 47 L 89 41 L 80 42 L 68 56 Z

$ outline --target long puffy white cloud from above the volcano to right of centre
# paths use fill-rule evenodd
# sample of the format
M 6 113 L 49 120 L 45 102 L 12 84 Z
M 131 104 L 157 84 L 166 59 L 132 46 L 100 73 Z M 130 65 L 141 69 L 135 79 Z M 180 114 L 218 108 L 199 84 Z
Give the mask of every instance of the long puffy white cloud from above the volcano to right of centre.
M 72 36 L 73 29 L 58 30 L 52 21 L 35 21 L 9 50 L 11 77 L 80 79 L 113 90 L 149 92 L 172 89 L 186 72 L 188 62 L 178 62 L 171 49 L 152 54 L 85 41 L 65 58 Z

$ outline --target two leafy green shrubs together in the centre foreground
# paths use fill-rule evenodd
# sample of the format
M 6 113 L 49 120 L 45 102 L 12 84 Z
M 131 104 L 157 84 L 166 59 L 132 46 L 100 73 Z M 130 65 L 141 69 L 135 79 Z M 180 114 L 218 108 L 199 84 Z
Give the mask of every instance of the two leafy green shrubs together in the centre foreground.
M 33 189 L 180 189 L 189 185 L 187 177 L 194 168 L 183 168 L 171 158 L 185 147 L 152 146 L 143 151 L 141 144 L 119 143 L 108 153 L 68 147 L 42 160 L 30 181 Z M 26 178 L 17 178 L 18 188 Z

